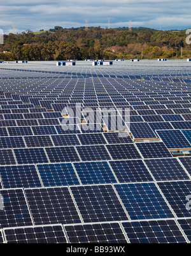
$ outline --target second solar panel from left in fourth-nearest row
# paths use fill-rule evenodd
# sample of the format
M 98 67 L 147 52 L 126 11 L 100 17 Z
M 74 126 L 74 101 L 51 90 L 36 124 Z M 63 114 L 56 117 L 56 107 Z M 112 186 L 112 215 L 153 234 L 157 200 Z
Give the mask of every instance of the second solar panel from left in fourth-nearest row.
M 14 149 L 14 153 L 19 165 L 48 163 L 48 159 L 43 148 Z

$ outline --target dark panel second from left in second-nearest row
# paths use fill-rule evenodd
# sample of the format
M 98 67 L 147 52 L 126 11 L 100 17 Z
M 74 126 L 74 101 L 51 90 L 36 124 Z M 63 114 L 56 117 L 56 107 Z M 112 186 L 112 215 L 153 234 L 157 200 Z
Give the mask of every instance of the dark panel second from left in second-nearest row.
M 81 223 L 67 187 L 26 189 L 35 225 Z

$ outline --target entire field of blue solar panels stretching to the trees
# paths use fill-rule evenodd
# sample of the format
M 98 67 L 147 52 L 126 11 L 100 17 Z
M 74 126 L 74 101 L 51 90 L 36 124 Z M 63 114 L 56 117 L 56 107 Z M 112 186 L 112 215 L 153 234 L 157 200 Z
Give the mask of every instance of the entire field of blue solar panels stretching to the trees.
M 2 64 L 0 243 L 190 243 L 190 77 Z

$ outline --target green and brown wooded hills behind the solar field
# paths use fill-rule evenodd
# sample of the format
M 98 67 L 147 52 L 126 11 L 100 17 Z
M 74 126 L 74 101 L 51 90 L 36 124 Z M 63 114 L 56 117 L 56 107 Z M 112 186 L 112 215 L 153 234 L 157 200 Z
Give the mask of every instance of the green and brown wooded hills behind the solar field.
M 44 31 L 26 30 L 4 36 L 0 59 L 13 61 L 57 61 L 66 59 L 169 59 L 191 57 L 185 31 L 157 31 L 145 27 L 102 29 L 85 27 L 64 29 L 60 26 Z M 4 52 L 4 53 L 3 53 Z

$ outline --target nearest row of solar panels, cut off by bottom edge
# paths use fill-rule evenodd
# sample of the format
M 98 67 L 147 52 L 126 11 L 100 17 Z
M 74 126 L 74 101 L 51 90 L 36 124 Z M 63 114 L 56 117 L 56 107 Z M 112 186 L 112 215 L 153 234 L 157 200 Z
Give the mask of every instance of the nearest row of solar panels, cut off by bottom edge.
M 0 243 L 191 243 L 190 223 L 187 218 L 19 227 L 0 230 Z

